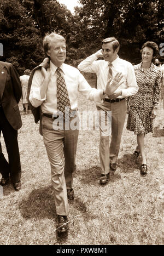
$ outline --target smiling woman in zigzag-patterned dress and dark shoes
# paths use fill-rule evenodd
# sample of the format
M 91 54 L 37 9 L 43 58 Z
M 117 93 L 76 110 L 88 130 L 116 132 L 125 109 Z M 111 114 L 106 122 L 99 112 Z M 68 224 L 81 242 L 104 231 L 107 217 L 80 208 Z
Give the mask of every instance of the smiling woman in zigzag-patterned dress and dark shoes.
M 161 70 L 152 62 L 158 51 L 159 48 L 154 42 L 143 44 L 142 62 L 134 66 L 139 90 L 127 100 L 127 129 L 137 134 L 137 147 L 133 157 L 138 157 L 139 153 L 142 156 L 141 175 L 146 175 L 148 172 L 144 137 L 145 134 L 153 132 L 153 120 L 160 99 Z

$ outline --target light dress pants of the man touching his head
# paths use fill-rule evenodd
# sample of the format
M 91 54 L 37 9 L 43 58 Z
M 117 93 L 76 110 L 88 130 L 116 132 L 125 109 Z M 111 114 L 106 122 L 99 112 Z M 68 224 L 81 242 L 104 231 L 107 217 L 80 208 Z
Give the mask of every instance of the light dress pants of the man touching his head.
M 104 112 L 103 115 L 101 114 L 102 112 Z M 99 157 L 101 174 L 108 174 L 109 163 L 116 163 L 119 155 L 122 130 L 126 117 L 126 100 L 123 99 L 116 103 L 104 101 L 103 104 L 97 105 L 97 113 L 100 130 Z

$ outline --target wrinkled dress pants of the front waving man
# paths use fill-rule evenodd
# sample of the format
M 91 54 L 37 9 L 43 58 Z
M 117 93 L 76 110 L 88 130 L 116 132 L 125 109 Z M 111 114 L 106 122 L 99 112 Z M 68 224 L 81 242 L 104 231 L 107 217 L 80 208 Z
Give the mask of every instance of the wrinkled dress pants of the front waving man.
M 42 117 L 43 140 L 51 166 L 56 214 L 67 215 L 67 189 L 72 188 L 79 130 L 65 127 L 56 130 L 53 122 L 49 117 Z

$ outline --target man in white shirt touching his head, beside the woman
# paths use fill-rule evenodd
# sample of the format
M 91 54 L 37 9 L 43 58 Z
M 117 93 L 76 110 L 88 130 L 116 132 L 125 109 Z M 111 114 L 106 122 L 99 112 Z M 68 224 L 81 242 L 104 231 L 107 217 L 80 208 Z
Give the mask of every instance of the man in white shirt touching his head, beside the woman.
M 133 66 L 130 62 L 118 56 L 120 44 L 115 37 L 108 37 L 102 41 L 102 49 L 80 62 L 78 69 L 97 75 L 97 88 L 104 90 L 109 77 L 116 72 L 123 75 L 122 83 L 115 92 L 103 100 L 96 101 L 97 111 L 112 111 L 112 138 L 109 145 L 110 129 L 100 127 L 99 157 L 101 162 L 100 184 L 106 185 L 110 174 L 116 170 L 119 155 L 122 130 L 126 116 L 126 97 L 137 93 L 138 86 Z M 103 57 L 103 60 L 97 60 Z M 108 115 L 108 114 L 106 114 Z M 110 124 L 109 124 L 110 125 Z

